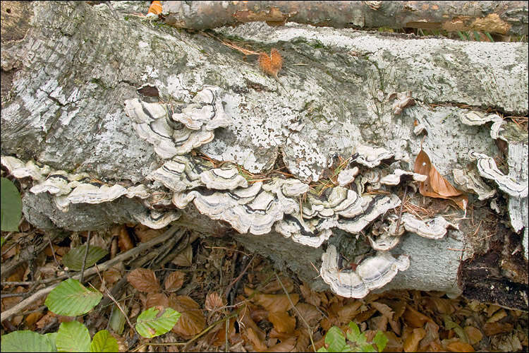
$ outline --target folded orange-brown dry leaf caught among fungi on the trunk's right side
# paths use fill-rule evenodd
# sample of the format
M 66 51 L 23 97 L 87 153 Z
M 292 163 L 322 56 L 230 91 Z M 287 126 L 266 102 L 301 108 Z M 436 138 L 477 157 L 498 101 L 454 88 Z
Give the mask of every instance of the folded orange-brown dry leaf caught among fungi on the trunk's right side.
M 422 196 L 447 198 L 454 201 L 462 210 L 466 210 L 468 197 L 454 188 L 449 181 L 437 172 L 437 169 L 430 162 L 430 157 L 422 149 L 417 155 L 417 158 L 415 158 L 413 172 L 427 175 L 426 181 L 422 181 L 419 184 L 419 192 Z

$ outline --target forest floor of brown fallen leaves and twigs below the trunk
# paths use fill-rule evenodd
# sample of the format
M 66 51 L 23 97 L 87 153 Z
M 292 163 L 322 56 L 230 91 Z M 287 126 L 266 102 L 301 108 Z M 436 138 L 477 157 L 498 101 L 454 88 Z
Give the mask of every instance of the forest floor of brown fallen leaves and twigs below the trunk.
M 25 221 L 20 229 L 23 232 L 2 232 L 8 236 L 1 248 L 1 270 L 8 271 L 2 275 L 2 311 L 75 274 L 63 260 L 88 237 L 88 232 L 42 232 Z M 116 226 L 109 232 L 91 232 L 90 246 L 108 251 L 101 264 L 165 230 Z M 246 253 L 231 239 L 203 239 L 193 232 L 89 276 L 85 285 L 105 294 L 89 313 L 76 318 L 56 315 L 44 305 L 44 296 L 3 321 L 2 335 L 14 330 L 53 333 L 60 323 L 76 319 L 91 337 L 109 330 L 120 352 L 312 352 L 324 347 L 329 328 L 336 325 L 346 332 L 352 321 L 367 342 L 381 330 L 388 339 L 384 352 L 529 348 L 527 312 L 463 297 L 450 299 L 440 292 L 389 291 L 363 299 L 312 292 L 292 273 L 279 273 L 267 258 Z M 106 293 L 121 304 L 128 320 Z M 128 322 L 134 325 L 138 314 L 152 306 L 172 307 L 181 318 L 169 333 L 147 339 Z M 348 343 L 355 349 L 354 342 Z

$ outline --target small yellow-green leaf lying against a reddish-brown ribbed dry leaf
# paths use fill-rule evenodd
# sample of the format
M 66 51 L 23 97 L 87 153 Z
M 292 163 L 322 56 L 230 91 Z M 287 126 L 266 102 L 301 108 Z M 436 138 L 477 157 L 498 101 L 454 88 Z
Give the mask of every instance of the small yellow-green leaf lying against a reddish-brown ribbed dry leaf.
M 158 312 L 159 309 L 152 307 L 138 316 L 136 330 L 142 337 L 152 338 L 169 332 L 181 316 L 181 313 L 171 308 L 166 308 L 159 317 L 157 317 Z

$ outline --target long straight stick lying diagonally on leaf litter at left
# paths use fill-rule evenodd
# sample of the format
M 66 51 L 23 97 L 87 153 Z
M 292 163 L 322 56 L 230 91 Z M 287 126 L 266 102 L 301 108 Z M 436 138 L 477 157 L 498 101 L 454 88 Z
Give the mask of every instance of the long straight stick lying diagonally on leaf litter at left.
M 136 246 L 134 249 L 130 249 L 126 253 L 122 253 L 121 255 L 118 255 L 115 258 L 112 258 L 109 261 L 102 263 L 101 265 L 99 265 L 99 268 L 101 268 L 102 270 L 107 270 L 108 268 L 111 268 L 116 263 L 122 262 L 126 258 L 136 256 L 138 255 L 138 253 L 141 253 L 145 249 L 149 249 L 150 247 L 154 245 L 157 245 L 157 244 L 160 244 L 166 241 L 167 239 L 169 239 L 169 237 L 174 236 L 176 232 L 185 232 L 185 229 L 178 230 L 179 228 L 180 228 L 179 225 L 174 225 L 171 228 L 169 228 L 164 234 L 160 235 L 159 237 L 154 238 L 150 241 L 146 241 L 145 243 L 142 243 Z M 95 275 L 95 273 L 96 273 L 95 268 L 89 268 L 88 270 L 86 270 L 85 275 L 87 276 Z M 78 279 L 79 277 L 80 277 L 80 274 L 72 276 L 72 278 L 74 279 Z M 51 290 L 57 287 L 57 285 L 59 284 L 51 285 L 47 288 L 41 289 L 39 290 L 39 292 L 36 292 L 28 299 L 24 299 L 23 301 L 20 301 L 20 303 L 16 304 L 16 306 L 13 306 L 11 309 L 2 311 L 0 313 L 0 321 L 8 320 L 9 318 L 11 318 L 11 316 L 16 315 L 17 313 L 20 313 L 20 311 L 22 311 L 26 306 L 44 297 L 44 295 L 51 292 Z

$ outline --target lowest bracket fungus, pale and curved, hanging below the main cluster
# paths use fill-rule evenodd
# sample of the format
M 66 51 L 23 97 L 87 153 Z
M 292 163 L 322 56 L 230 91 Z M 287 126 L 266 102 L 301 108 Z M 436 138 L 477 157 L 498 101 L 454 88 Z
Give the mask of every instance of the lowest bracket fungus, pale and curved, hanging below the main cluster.
M 384 287 L 399 270 L 407 270 L 410 265 L 407 255 L 396 259 L 390 253 L 379 251 L 377 255 L 361 262 L 356 270 L 341 270 L 339 258 L 336 246 L 329 244 L 327 251 L 322 254 L 320 275 L 334 293 L 357 299 L 365 297 L 373 289 Z

